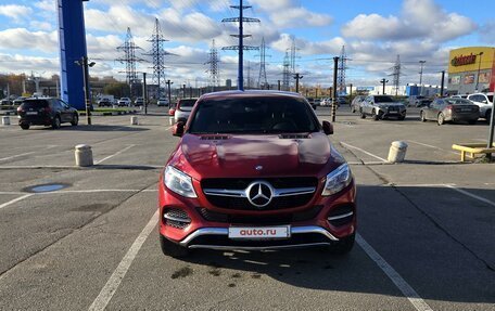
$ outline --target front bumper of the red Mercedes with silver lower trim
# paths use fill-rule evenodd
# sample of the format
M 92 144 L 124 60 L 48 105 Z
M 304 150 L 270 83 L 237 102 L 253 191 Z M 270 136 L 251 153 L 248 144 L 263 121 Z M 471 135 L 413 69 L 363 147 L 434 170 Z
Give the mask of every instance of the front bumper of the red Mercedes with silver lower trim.
M 317 191 L 320 193 L 321 189 Z M 160 182 L 160 234 L 187 248 L 266 250 L 332 245 L 356 230 L 355 194 L 352 182 L 332 196 L 315 195 L 306 206 L 287 210 L 228 210 L 211 206 L 201 194 L 199 198 L 181 197 Z M 167 223 L 164 216 L 170 209 L 186 211 L 189 222 L 182 228 Z M 225 220 L 205 217 L 204 210 L 228 217 Z M 236 239 L 228 236 L 230 226 L 270 225 L 290 225 L 290 237 Z

